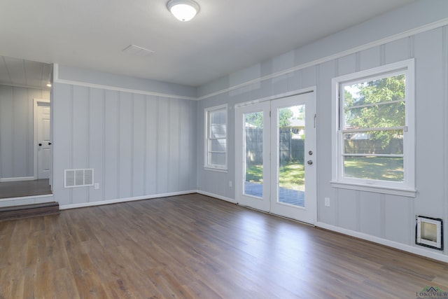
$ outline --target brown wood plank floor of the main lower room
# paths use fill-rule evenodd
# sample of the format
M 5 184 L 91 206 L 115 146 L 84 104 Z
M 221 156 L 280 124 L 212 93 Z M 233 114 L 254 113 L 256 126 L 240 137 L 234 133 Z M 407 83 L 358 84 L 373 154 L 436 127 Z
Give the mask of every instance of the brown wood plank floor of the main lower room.
M 448 264 L 203 195 L 0 222 L 0 298 L 416 298 Z

